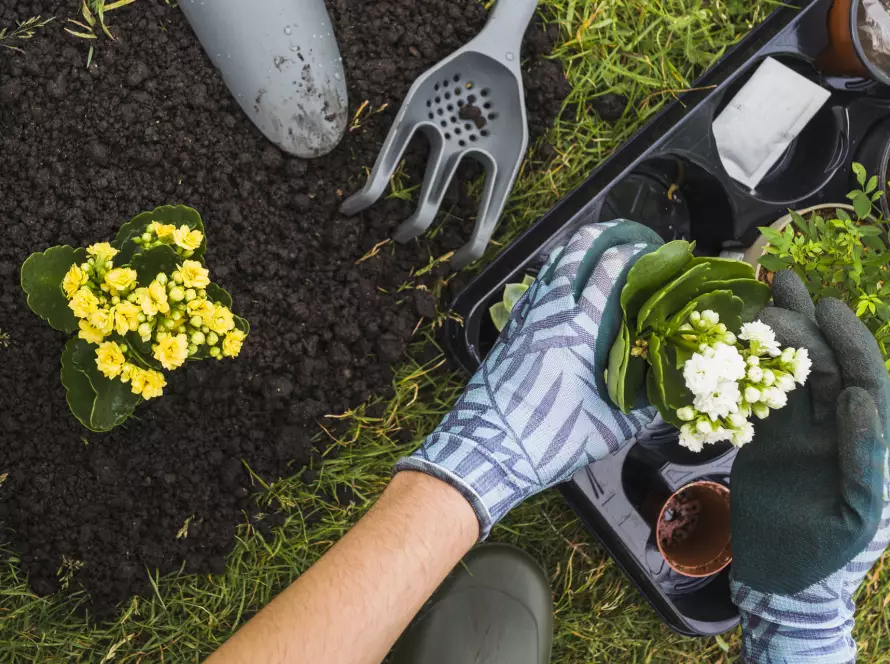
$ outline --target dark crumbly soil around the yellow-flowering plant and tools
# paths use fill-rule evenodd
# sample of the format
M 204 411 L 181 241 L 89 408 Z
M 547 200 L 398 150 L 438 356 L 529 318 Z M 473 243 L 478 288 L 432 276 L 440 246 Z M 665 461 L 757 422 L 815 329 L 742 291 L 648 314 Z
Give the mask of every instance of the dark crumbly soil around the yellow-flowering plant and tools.
M 175 4 L 175 3 L 174 3 Z M 24 54 L 0 49 L 0 540 L 11 542 L 38 593 L 58 589 L 63 559 L 83 566 L 75 586 L 100 613 L 149 589 L 145 569 L 183 563 L 220 573 L 235 528 L 252 514 L 244 464 L 272 479 L 315 464 L 317 422 L 391 390 L 418 321 L 435 313 L 422 290 L 444 269 L 412 279 L 463 244 L 473 201 L 454 186 L 435 240 L 356 265 L 412 211 L 383 201 L 361 218 L 338 214 L 358 189 L 413 79 L 469 40 L 486 13 L 476 0 L 329 0 L 349 80 L 351 112 L 388 104 L 315 161 L 268 144 L 215 73 L 184 17 L 162 0 L 108 15 L 116 42 L 63 31 L 79 1 L 0 0 L 0 26 L 56 20 Z M 567 93 L 544 55 L 555 27 L 526 39 L 533 138 Z M 425 147 L 407 170 L 419 181 Z M 468 170 L 467 174 L 474 174 Z M 460 180 L 460 178 L 458 178 Z M 109 434 L 80 426 L 65 404 L 65 337 L 28 309 L 19 266 L 54 244 L 113 237 L 162 204 L 197 208 L 207 265 L 252 324 L 236 361 L 189 364 L 162 399 Z M 242 463 L 243 462 L 243 463 Z M 304 474 L 311 481 L 311 473 Z M 331 500 L 337 500 L 332 496 Z M 192 517 L 188 536 L 177 532 Z M 274 516 L 260 522 L 275 523 Z

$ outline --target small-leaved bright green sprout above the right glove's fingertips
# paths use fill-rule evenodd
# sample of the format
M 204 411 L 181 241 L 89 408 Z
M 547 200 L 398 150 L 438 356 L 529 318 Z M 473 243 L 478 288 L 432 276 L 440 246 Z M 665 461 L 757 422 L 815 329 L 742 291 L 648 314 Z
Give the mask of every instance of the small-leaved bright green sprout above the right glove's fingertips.
M 759 263 L 771 272 L 791 269 L 813 300 L 846 302 L 874 335 L 890 369 L 890 248 L 888 222 L 877 201 L 884 195 L 876 176 L 853 164 L 859 189 L 847 194 L 853 210 L 838 207 L 806 216 L 791 212 L 783 230 L 761 228 L 769 242 Z

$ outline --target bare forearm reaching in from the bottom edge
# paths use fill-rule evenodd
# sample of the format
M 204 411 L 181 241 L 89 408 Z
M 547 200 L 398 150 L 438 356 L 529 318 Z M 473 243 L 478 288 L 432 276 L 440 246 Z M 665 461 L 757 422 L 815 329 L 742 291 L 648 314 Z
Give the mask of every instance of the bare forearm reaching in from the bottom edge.
M 371 511 L 207 664 L 380 662 L 479 536 L 455 489 L 401 472 Z

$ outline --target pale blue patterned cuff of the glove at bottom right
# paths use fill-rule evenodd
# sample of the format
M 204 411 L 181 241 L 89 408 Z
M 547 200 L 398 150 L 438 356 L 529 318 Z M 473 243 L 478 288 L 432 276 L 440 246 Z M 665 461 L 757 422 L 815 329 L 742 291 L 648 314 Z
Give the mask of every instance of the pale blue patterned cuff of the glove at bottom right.
M 832 590 L 835 585 L 828 579 L 789 597 L 732 581 L 742 619 L 742 661 L 854 664 L 855 607 Z

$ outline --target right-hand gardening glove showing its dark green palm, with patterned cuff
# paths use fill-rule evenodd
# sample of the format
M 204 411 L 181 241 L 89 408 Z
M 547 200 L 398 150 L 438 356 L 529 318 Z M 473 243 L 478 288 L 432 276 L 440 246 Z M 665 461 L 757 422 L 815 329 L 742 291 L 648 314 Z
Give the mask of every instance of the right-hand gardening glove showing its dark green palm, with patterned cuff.
M 763 322 L 813 362 L 732 469 L 732 597 L 746 662 L 854 662 L 853 595 L 890 541 L 890 379 L 843 303 L 776 275 Z

